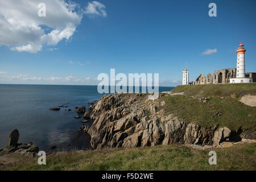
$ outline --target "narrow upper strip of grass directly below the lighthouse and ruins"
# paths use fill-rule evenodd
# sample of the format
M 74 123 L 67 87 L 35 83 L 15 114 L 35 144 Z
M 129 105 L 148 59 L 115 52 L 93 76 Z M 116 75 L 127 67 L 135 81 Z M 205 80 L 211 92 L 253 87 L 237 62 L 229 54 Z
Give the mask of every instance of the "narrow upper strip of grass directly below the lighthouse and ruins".
M 179 85 L 172 93 L 184 92 L 185 96 L 236 96 L 245 94 L 256 95 L 256 83 L 251 84 L 210 84 L 210 85 Z

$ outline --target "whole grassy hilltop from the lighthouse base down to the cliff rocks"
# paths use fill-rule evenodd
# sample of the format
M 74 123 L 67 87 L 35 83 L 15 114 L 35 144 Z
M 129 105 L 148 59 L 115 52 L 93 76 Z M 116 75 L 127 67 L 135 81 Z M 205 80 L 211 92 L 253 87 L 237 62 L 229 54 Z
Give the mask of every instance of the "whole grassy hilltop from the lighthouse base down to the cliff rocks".
M 182 95 L 160 97 L 167 104 L 159 107 L 167 113 L 175 113 L 185 122 L 202 127 L 220 124 L 231 130 L 256 130 L 256 107 L 240 102 L 246 94 L 256 95 L 256 83 L 253 84 L 211 84 L 180 85 L 171 94 Z M 207 97 L 208 102 L 199 102 L 199 98 Z

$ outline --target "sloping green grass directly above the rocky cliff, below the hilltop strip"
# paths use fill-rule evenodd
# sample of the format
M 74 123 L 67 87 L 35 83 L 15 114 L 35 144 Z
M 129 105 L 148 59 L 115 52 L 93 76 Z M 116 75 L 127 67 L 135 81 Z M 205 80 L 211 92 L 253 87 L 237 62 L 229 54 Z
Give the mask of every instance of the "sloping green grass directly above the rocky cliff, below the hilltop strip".
M 158 107 L 169 113 L 174 113 L 184 122 L 194 123 L 202 127 L 212 127 L 219 124 L 220 127 L 228 127 L 230 130 L 256 129 L 256 107 L 242 104 L 232 97 L 209 97 L 209 102 L 203 103 L 197 97 L 167 96 L 160 97 L 166 105 Z M 221 115 L 216 117 L 216 113 Z

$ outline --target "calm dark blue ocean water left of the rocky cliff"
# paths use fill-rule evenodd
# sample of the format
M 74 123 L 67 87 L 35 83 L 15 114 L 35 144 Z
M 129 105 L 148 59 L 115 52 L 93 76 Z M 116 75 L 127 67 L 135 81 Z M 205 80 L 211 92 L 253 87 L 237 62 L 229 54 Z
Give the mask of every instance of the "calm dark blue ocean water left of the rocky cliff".
M 159 92 L 172 89 L 160 86 Z M 19 143 L 33 142 L 39 150 L 50 151 L 51 146 L 57 146 L 57 150 L 89 148 L 88 136 L 79 132 L 82 115 L 74 118 L 79 115 L 75 107 L 88 109 L 89 102 L 102 96 L 97 86 L 0 84 L 0 148 L 8 144 L 14 129 L 19 130 Z M 66 107 L 49 110 L 61 105 Z

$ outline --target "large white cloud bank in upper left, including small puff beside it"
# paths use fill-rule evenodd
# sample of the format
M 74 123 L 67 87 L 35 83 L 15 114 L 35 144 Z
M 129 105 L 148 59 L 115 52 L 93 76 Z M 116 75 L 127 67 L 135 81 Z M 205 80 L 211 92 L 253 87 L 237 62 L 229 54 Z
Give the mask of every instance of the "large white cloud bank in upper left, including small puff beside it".
M 40 2 L 42 0 L 0 1 L 0 46 L 36 53 L 44 46 L 71 40 L 83 13 L 106 16 L 105 6 L 97 1 L 88 3 L 84 11 L 72 1 L 44 0 L 46 17 L 40 17 Z

